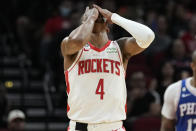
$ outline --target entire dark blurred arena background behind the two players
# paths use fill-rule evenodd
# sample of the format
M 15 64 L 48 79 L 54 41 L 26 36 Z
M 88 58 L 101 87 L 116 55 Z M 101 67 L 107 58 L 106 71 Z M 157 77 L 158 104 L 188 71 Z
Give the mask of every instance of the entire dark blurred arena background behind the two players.
M 192 75 L 195 0 L 1 1 L 0 131 L 65 131 L 69 120 L 60 43 L 91 3 L 155 32 L 151 46 L 129 61 L 124 125 L 127 131 L 159 130 L 164 91 Z M 111 40 L 122 36 L 130 35 L 110 26 Z

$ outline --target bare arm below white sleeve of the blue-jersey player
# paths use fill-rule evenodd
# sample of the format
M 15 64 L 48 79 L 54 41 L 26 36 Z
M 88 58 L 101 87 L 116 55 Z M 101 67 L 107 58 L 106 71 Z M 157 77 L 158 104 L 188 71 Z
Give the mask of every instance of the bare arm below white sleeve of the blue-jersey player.
M 175 120 L 162 117 L 161 131 L 175 131 Z

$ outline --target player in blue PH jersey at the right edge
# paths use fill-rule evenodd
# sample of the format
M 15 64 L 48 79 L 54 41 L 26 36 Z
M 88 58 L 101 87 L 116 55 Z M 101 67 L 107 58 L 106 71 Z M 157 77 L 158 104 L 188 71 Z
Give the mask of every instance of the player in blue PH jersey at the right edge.
M 193 77 L 171 84 L 164 95 L 161 131 L 196 131 L 196 51 Z

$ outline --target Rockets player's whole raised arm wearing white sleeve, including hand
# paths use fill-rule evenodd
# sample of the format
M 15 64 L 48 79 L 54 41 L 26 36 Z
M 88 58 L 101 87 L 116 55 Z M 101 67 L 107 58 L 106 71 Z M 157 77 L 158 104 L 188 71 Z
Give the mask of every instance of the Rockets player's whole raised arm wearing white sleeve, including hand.
M 154 32 L 149 27 L 123 18 L 116 13 L 111 13 L 110 11 L 102 9 L 97 5 L 94 5 L 94 7 L 97 8 L 105 18 L 107 18 L 109 23 L 115 23 L 121 26 L 133 36 L 124 37 L 117 40 L 124 59 L 130 58 L 131 56 L 142 52 L 154 40 Z

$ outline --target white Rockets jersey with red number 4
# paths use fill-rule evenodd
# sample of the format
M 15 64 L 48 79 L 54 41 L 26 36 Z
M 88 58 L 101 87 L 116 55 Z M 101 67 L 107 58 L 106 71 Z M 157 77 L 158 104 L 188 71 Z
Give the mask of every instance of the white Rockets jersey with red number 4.
M 101 49 L 86 44 L 65 77 L 69 119 L 89 124 L 126 119 L 125 71 L 116 41 Z

